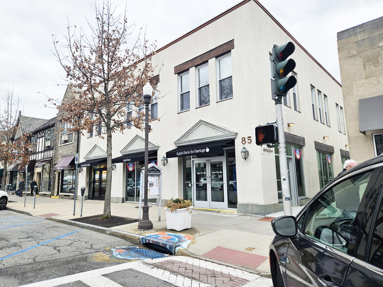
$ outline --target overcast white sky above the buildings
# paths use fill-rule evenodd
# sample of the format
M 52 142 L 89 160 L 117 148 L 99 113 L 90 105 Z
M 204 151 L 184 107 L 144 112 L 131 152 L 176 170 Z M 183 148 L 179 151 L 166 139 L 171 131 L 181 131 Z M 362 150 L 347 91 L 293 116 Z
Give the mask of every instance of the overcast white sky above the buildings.
M 96 0 L 100 2 L 101 0 Z M 128 21 L 147 25 L 157 48 L 239 3 L 239 0 L 127 0 Z M 337 32 L 383 16 L 382 0 L 260 0 L 317 61 L 340 81 Z M 125 0 L 119 0 L 123 12 Z M 52 54 L 52 34 L 93 20 L 93 0 L 0 0 L 0 96 L 20 96 L 23 115 L 49 119 L 47 94 L 62 98 L 65 73 Z

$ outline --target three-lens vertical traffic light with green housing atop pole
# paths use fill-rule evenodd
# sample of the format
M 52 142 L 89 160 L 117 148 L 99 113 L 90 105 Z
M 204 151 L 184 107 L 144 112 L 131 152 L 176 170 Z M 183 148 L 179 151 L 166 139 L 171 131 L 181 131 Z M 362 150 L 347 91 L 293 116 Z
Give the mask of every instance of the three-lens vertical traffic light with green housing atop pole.
M 274 76 L 274 95 L 286 96 L 287 92 L 297 84 L 297 79 L 294 76 L 286 77 L 294 70 L 296 63 L 293 59 L 286 60 L 294 53 L 295 45 L 288 42 L 281 46 L 274 45 L 273 47 L 273 76 Z

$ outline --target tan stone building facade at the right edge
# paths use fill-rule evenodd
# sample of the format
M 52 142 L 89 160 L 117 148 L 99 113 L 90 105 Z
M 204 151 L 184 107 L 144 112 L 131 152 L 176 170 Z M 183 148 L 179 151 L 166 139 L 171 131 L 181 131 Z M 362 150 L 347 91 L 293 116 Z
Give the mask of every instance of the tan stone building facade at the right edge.
M 363 162 L 383 153 L 383 17 L 338 33 L 350 154 Z

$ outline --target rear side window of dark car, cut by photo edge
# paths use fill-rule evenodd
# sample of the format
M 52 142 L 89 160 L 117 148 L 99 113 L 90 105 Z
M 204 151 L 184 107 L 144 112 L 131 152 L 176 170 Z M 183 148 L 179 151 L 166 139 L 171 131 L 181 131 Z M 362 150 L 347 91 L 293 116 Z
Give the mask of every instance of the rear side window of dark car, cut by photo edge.
M 372 265 L 383 268 L 383 201 L 379 208 L 379 214 L 375 221 L 374 233 L 372 234 L 369 262 Z

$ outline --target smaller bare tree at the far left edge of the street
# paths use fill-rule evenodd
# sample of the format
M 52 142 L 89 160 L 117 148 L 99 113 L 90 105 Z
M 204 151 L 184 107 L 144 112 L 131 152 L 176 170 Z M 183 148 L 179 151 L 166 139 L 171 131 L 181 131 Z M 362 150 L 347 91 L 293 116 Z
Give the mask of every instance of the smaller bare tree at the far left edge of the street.
M 5 189 L 6 170 L 10 164 L 25 164 L 29 160 L 29 134 L 17 133 L 20 98 L 8 89 L 0 102 L 0 162 L 4 166 L 1 187 Z

